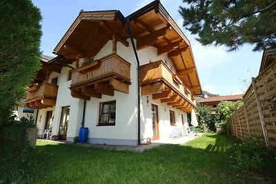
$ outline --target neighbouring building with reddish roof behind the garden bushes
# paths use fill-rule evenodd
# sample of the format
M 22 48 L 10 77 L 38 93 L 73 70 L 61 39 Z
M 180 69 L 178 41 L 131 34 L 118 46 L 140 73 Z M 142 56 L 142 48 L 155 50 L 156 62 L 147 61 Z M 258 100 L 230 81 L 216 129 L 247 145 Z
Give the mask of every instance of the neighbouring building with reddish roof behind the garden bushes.
M 217 108 L 217 105 L 221 101 L 242 101 L 242 94 L 213 97 L 204 96 L 204 98 L 197 99 L 197 103 L 210 106 L 211 108 Z

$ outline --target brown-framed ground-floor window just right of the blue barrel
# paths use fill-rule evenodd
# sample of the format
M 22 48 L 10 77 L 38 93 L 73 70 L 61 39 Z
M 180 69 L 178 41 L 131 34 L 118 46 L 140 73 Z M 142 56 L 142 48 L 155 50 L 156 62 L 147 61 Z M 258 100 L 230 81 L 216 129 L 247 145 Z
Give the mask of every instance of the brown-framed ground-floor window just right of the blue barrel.
M 99 105 L 99 124 L 115 125 L 116 120 L 116 101 L 108 101 Z

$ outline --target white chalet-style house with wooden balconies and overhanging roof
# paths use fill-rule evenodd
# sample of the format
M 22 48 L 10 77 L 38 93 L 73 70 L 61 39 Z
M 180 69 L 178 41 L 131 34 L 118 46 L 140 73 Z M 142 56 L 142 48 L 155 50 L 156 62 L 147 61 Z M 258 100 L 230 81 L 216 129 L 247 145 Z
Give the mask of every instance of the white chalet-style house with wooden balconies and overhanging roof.
M 73 141 L 137 145 L 181 134 L 201 85 L 190 42 L 159 1 L 124 17 L 80 12 L 28 89 L 37 125 Z

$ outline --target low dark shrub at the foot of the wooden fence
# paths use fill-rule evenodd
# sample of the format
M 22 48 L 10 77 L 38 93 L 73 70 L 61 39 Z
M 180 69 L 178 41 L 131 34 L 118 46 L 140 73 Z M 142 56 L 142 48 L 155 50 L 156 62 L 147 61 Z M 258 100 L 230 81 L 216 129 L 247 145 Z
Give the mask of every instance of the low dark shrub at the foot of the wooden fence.
M 241 170 L 269 172 L 270 167 L 276 167 L 275 155 L 268 150 L 262 136 L 258 134 L 253 134 L 243 141 L 235 143 L 230 147 L 229 154 L 233 166 Z

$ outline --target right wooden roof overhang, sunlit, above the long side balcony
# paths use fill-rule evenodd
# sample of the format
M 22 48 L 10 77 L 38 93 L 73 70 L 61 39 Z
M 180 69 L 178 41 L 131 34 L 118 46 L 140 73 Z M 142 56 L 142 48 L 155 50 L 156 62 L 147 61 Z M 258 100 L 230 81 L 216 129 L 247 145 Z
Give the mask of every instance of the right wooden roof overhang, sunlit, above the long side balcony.
M 193 94 L 202 93 L 190 41 L 160 1 L 153 1 L 126 20 L 130 21 L 133 37 L 137 39 L 137 50 L 153 46 L 158 55 L 168 54 L 184 84 Z

